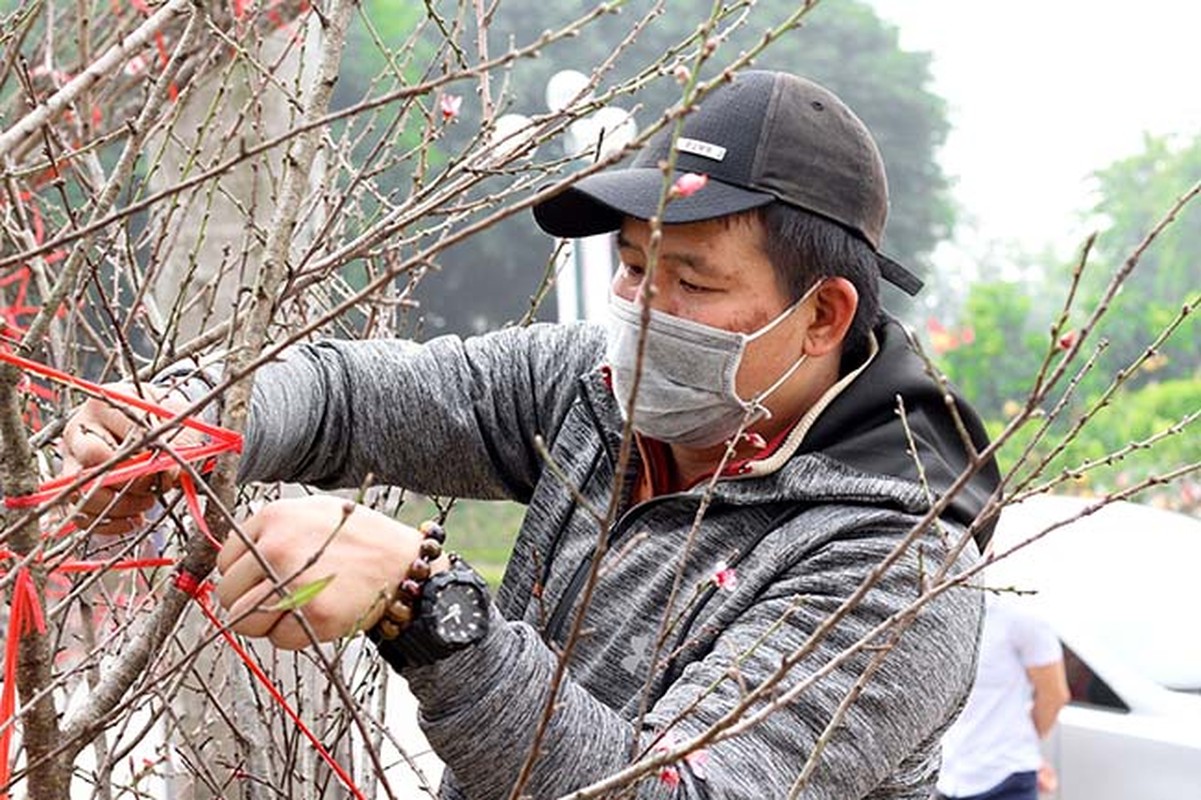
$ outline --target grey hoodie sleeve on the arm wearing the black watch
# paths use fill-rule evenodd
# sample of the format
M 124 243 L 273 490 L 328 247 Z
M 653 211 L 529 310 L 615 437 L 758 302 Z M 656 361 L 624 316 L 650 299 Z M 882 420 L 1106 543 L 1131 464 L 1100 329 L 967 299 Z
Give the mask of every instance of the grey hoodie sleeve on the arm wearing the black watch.
M 631 720 L 568 679 L 525 793 L 560 798 L 620 771 L 631 763 L 635 734 L 645 746 L 668 727 L 675 741 L 705 732 L 748 689 L 767 680 L 783 658 L 811 641 L 896 541 L 896 531 L 860 531 L 795 562 L 724 627 L 707 656 L 667 687 L 643 730 L 635 732 Z M 928 798 L 937 775 L 938 738 L 973 674 L 979 592 L 945 592 L 915 616 L 896 643 L 880 637 L 866 651 L 832 665 L 837 653 L 916 598 L 922 562 L 928 569 L 943 551 L 933 536 L 921 548 L 922 555 L 902 559 L 884 574 L 789 671 L 781 689 L 817 676 L 811 686 L 763 722 L 677 764 L 679 783 L 652 774 L 639 783 L 635 796 L 784 798 L 809 756 L 820 750 L 801 798 Z M 590 627 L 603 631 L 603 609 L 596 611 Z M 593 622 L 591 613 L 588 620 Z M 883 653 L 883 664 L 856 688 L 877 653 Z M 430 667 L 404 670 L 420 703 L 422 727 L 462 796 L 508 796 L 548 700 L 555 664 L 556 655 L 536 631 L 494 613 L 494 629 L 480 645 Z M 824 669 L 829 671 L 819 675 Z M 855 699 L 842 722 L 825 736 L 827 723 L 853 692 Z M 770 694 L 740 718 L 765 710 L 777 697 L 778 692 Z

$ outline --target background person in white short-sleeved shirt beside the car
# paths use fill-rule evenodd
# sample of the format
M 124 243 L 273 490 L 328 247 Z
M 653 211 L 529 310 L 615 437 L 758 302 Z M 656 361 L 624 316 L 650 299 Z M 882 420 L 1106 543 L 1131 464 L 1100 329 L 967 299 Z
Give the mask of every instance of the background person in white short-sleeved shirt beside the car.
M 990 595 L 975 685 L 943 736 L 945 800 L 1038 800 L 1054 772 L 1039 740 L 1070 698 L 1063 647 L 1050 625 L 1011 595 Z

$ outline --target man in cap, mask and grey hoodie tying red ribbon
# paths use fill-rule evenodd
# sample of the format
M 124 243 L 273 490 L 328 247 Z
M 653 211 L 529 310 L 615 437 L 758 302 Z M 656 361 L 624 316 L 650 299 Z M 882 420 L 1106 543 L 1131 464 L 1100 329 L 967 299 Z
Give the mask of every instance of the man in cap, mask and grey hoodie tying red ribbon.
M 336 575 L 304 616 L 322 639 L 370 629 L 420 703 L 449 771 L 443 796 L 508 796 L 598 539 L 600 577 L 524 789 L 536 798 L 611 775 L 668 728 L 675 741 L 706 730 L 802 646 L 812 651 L 781 689 L 814 676 L 920 595 L 996 486 L 988 464 L 938 530 L 819 632 L 968 462 L 943 392 L 878 310 L 880 274 L 920 285 L 879 252 L 883 162 L 831 92 L 746 72 L 687 117 L 676 175 L 709 180 L 677 192 L 657 229 L 669 147 L 661 135 L 629 168 L 534 210 L 556 235 L 617 232 L 608 328 L 531 326 L 420 347 L 329 341 L 256 376 L 245 480 L 334 488 L 372 474 L 528 506 L 503 584 L 483 604 L 486 626 L 467 622 L 479 601 L 466 565 L 452 569 L 443 556 L 428 567 L 418 532 L 364 508 L 346 514 L 337 500 L 273 503 L 244 525 L 257 556 L 241 538 L 221 553 L 219 595 L 235 629 L 283 647 L 309 638 L 295 615 L 263 610 L 279 589 L 259 559 L 295 575 L 293 587 Z M 962 402 L 958 412 L 981 447 L 978 419 Z M 92 404 L 68 426 L 79 462 L 107 452 L 80 431 L 104 413 Z M 627 418 L 639 435 L 622 471 Z M 616 521 L 602 537 L 597 518 L 610 506 Z M 735 565 L 736 585 L 694 592 L 721 563 Z M 940 595 L 844 714 L 839 703 L 889 637 L 704 759 L 681 762 L 671 780 L 644 781 L 638 796 L 782 798 L 820 746 L 803 796 L 927 798 L 939 735 L 968 691 L 979 617 L 976 595 Z M 664 620 L 675 622 L 657 647 Z

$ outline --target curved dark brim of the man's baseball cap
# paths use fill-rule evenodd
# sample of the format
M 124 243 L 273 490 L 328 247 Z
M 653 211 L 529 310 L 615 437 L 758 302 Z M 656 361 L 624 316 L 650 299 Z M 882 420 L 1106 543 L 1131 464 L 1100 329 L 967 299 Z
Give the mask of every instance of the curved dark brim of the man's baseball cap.
M 623 217 L 649 220 L 658 211 L 663 173 L 653 167 L 614 169 L 588 175 L 533 208 L 534 220 L 546 233 L 575 239 L 608 233 Z M 667 204 L 663 222 L 700 222 L 766 205 L 775 197 L 710 180 L 703 189 L 675 197 Z

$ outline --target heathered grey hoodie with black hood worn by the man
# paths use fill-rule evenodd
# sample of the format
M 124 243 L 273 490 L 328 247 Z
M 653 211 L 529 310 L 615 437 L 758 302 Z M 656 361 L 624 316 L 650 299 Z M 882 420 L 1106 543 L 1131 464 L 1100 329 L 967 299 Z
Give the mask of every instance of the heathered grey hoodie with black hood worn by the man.
M 622 420 L 600 366 L 603 336 L 580 324 L 422 346 L 329 341 L 292 348 L 256 377 L 244 479 L 334 488 L 359 485 L 372 473 L 420 492 L 528 506 L 484 641 L 404 670 L 420 724 L 448 768 L 443 796 L 508 796 L 548 702 L 556 651 L 598 542 L 585 506 L 607 508 L 615 483 Z M 964 447 L 942 392 L 900 326 L 882 327 L 877 339 L 880 352 L 785 441 L 716 484 L 691 548 L 704 485 L 634 506 L 622 500 L 528 796 L 561 796 L 611 775 L 668 728 L 673 741 L 704 732 L 783 657 L 813 644 L 823 620 L 927 507 L 897 395 L 925 480 L 938 491 L 958 474 Z M 979 446 L 979 423 L 963 413 Z M 538 436 L 582 500 L 545 466 Z M 637 461 L 635 453 L 627 488 Z M 922 533 L 779 691 L 912 603 L 922 575 L 943 561 L 948 541 L 994 485 L 990 466 L 949 509 L 942 532 Z M 449 541 L 453 548 L 453 527 Z M 957 568 L 970 565 L 974 549 Z M 712 585 L 721 561 L 736 562 L 733 590 Z M 681 591 L 668 609 L 677 571 Z M 916 615 L 826 738 L 801 796 L 930 796 L 938 738 L 973 675 L 980 608 L 978 593 L 955 589 Z M 664 615 L 675 625 L 652 669 Z M 760 724 L 680 762 L 677 784 L 652 772 L 634 794 L 787 796 L 886 639 L 878 637 L 874 647 L 843 661 Z

